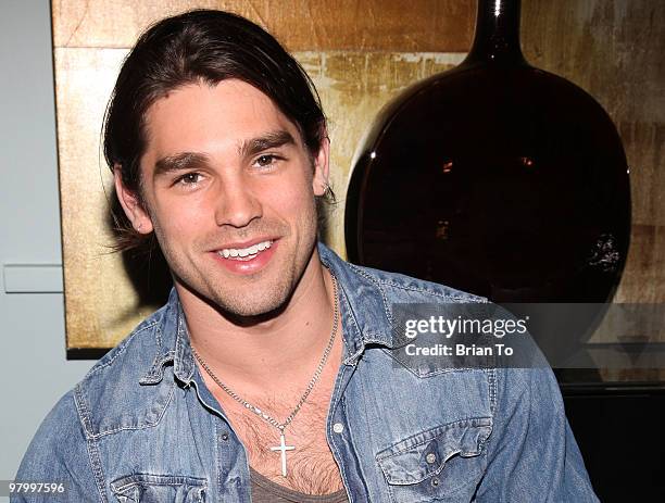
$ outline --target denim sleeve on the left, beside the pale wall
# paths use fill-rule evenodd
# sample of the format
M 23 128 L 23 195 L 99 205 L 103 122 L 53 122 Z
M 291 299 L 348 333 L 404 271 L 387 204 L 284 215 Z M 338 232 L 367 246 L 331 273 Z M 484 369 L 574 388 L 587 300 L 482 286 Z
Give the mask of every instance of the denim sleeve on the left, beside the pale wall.
M 64 482 L 61 494 L 14 494 L 10 503 L 99 502 L 74 393 L 65 394 L 43 419 L 16 474 L 16 481 Z

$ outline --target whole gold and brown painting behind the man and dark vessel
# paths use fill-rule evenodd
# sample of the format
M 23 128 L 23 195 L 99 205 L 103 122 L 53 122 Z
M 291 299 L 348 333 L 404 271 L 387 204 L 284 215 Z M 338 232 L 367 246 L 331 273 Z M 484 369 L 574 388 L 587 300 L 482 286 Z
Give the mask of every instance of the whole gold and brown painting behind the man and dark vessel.
M 54 0 L 68 348 L 112 347 L 156 307 L 140 305 L 108 248 L 110 174 L 100 130 L 138 34 L 195 7 L 231 10 L 266 26 L 313 77 L 330 122 L 331 181 L 340 201 L 327 241 L 342 255 L 344 193 L 362 136 L 391 97 L 463 59 L 475 21 L 475 2 L 463 0 Z M 624 140 L 633 230 L 615 300 L 665 302 L 665 9 L 658 0 L 524 0 L 522 33 L 530 63 L 594 96 Z

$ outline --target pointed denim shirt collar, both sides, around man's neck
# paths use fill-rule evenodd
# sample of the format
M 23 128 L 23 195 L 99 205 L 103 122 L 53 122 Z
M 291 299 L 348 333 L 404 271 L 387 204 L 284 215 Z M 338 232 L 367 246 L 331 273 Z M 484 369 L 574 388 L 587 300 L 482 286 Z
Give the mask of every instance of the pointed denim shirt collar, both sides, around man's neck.
M 355 365 L 368 343 L 393 348 L 390 309 L 374 278 L 365 269 L 341 260 L 324 243 L 318 242 L 317 249 L 323 265 L 337 279 L 344 340 L 342 362 Z M 161 319 L 155 325 L 160 348 L 140 382 L 148 385 L 161 381 L 164 366 L 173 362 L 175 376 L 189 383 L 196 365 L 183 306 L 175 288 L 159 313 Z

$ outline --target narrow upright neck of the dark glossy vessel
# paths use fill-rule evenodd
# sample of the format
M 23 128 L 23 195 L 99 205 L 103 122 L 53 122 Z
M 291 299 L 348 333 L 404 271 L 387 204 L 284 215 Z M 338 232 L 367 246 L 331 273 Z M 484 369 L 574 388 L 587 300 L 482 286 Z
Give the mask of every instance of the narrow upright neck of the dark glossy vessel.
M 526 63 L 519 46 L 519 0 L 478 0 L 476 35 L 464 63 Z

